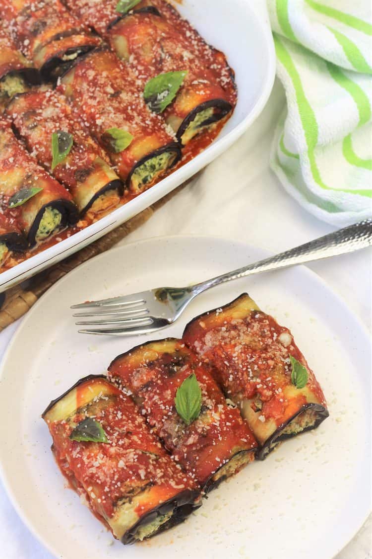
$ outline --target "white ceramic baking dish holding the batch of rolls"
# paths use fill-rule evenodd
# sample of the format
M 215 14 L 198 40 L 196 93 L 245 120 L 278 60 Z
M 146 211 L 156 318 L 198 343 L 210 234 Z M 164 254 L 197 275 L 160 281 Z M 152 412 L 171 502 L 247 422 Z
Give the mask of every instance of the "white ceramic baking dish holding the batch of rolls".
M 275 74 L 274 47 L 265 4 L 264 0 L 183 0 L 182 4 L 177 4 L 177 9 L 206 41 L 228 56 L 238 85 L 238 105 L 234 115 L 209 148 L 156 186 L 83 231 L 0 274 L 0 292 L 66 258 L 131 219 L 192 177 L 248 129 L 268 100 Z

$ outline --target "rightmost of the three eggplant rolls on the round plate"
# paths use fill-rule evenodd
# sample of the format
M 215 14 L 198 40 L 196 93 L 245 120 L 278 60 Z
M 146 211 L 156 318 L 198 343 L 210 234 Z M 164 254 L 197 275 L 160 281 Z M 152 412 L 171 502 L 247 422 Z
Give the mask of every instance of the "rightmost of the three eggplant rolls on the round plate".
M 183 341 L 214 367 L 257 438 L 260 459 L 328 417 L 322 389 L 291 332 L 246 293 L 192 320 Z

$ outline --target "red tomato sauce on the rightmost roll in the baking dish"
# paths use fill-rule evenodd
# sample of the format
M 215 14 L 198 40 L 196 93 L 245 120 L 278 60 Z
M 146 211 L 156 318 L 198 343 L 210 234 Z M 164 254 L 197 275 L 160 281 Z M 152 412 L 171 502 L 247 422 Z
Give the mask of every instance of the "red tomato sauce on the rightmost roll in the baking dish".
M 119 37 L 125 40 L 129 65 L 143 84 L 158 74 L 187 72 L 165 119 L 168 114 L 185 118 L 195 106 L 214 99 L 235 105 L 236 90 L 225 55 L 207 45 L 189 24 L 177 26 L 152 13 L 134 13 L 109 30 L 113 50 L 117 50 Z

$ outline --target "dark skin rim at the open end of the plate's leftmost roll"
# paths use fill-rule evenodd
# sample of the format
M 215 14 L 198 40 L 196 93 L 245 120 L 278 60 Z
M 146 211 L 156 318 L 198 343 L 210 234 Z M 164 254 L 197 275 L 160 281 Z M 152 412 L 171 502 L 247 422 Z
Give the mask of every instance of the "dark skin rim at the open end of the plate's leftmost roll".
M 177 499 L 171 499 L 162 503 L 161 505 L 157 506 L 156 509 L 150 510 L 143 518 L 138 520 L 136 524 L 129 529 L 121 539 L 121 542 L 125 544 L 135 543 L 136 540 L 136 533 L 141 526 L 149 524 L 153 522 L 157 516 L 166 514 L 173 510 L 172 517 L 161 525 L 161 527 L 157 530 L 156 534 L 167 530 L 168 528 L 172 528 L 177 524 L 180 524 L 187 518 L 191 513 L 193 513 L 196 509 L 199 509 L 201 506 L 201 501 L 199 503 L 195 503 L 195 500 L 199 498 L 200 492 L 193 491 L 188 489 L 186 491 L 182 491 L 180 494 L 177 495 Z M 153 534 L 154 536 L 156 534 Z

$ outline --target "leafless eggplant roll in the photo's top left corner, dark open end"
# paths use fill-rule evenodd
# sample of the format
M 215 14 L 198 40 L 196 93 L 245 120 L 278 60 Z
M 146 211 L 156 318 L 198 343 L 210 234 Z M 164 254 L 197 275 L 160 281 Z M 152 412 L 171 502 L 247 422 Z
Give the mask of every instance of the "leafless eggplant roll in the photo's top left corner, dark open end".
M 0 15 L 46 81 L 55 82 L 78 56 L 101 43 L 60 0 L 0 0 Z

